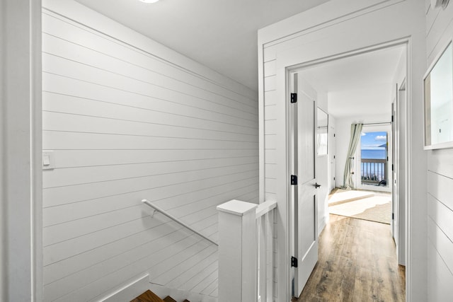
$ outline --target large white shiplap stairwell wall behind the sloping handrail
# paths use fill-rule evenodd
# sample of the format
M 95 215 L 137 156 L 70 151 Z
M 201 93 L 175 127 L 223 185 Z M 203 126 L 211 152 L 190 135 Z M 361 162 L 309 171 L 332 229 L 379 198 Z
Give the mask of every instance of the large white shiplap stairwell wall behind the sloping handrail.
M 258 101 L 46 9 L 42 32 L 45 301 L 144 272 L 217 296 L 217 247 L 141 200 L 218 240 L 218 204 L 258 203 Z

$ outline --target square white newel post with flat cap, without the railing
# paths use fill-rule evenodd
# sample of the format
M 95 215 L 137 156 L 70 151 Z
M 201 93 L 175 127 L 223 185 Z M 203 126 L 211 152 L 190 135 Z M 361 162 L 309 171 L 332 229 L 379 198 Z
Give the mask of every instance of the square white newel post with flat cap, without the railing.
M 219 211 L 219 302 L 257 301 L 257 204 L 231 200 Z

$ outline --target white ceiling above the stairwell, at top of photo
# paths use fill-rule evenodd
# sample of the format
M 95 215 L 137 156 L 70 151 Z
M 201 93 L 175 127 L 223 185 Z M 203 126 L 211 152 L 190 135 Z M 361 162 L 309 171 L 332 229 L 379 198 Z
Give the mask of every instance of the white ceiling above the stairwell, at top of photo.
M 76 0 L 258 91 L 258 29 L 327 0 Z

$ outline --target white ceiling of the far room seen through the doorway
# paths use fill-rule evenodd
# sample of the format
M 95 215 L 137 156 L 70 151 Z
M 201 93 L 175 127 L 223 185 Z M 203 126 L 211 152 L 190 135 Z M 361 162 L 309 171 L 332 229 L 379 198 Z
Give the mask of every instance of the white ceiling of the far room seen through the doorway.
M 404 46 L 338 59 L 304 69 L 301 74 L 316 91 L 328 93 L 334 117 L 390 115 L 392 80 Z

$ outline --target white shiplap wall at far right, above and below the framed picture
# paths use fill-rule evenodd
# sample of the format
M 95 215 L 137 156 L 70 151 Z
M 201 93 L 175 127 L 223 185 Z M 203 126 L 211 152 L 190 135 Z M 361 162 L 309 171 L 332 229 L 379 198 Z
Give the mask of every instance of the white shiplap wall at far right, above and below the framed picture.
M 453 5 L 426 1 L 426 53 L 430 65 L 453 37 Z M 428 151 L 428 299 L 453 296 L 453 151 Z

